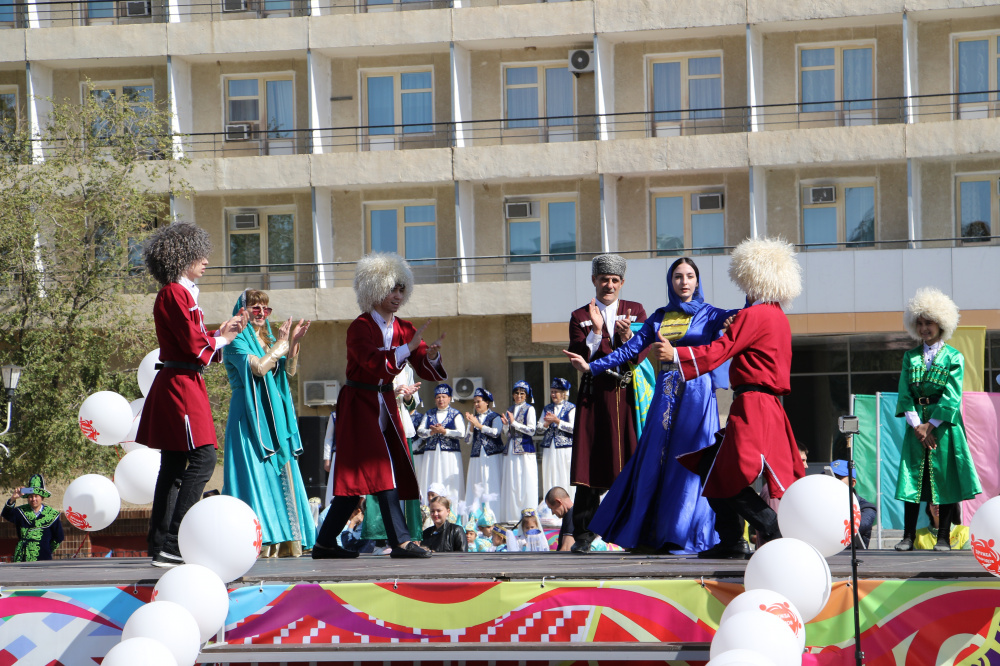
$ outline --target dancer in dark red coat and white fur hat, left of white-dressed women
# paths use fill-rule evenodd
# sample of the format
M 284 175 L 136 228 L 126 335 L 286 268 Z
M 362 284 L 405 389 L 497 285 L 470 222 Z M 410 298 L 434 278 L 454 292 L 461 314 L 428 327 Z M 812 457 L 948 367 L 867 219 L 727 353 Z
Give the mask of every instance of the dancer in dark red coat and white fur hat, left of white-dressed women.
M 392 380 L 406 363 L 423 379 L 448 377 L 441 366 L 441 335 L 428 345 L 419 329 L 396 317 L 413 292 L 413 272 L 397 254 L 374 253 L 358 261 L 354 293 L 362 314 L 347 329 L 347 381 L 337 398 L 337 456 L 333 501 L 316 537 L 313 559 L 357 557 L 337 545 L 362 495 L 378 499 L 390 557 L 430 557 L 411 540 L 400 500 L 420 490 L 400 420 Z M 413 395 L 419 384 L 403 387 Z M 419 536 L 418 536 L 419 538 Z

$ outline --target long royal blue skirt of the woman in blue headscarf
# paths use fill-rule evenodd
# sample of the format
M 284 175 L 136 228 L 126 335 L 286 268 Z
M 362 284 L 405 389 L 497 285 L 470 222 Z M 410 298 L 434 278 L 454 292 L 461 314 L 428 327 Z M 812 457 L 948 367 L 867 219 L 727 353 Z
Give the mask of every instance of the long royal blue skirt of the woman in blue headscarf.
M 623 548 L 667 544 L 695 553 L 719 541 L 715 512 L 701 480 L 677 456 L 712 443 L 719 408 L 707 375 L 685 382 L 677 371 L 657 377 L 639 445 L 605 495 L 590 529 Z

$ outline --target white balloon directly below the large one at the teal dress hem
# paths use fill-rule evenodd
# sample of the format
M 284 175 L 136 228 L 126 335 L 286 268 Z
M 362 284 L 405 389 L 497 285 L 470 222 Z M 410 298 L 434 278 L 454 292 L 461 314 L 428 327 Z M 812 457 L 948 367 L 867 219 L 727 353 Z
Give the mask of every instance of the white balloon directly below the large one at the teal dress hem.
M 202 643 L 219 632 L 229 613 L 226 584 L 200 564 L 168 569 L 153 588 L 153 601 L 173 601 L 184 606 L 198 623 Z

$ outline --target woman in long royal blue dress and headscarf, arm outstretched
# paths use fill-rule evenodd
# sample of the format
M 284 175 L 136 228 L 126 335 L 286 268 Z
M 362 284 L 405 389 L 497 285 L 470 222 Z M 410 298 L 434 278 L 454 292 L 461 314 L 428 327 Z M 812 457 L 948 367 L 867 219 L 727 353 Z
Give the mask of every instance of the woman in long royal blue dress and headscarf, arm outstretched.
M 660 339 L 675 347 L 720 337 L 734 310 L 705 302 L 694 261 L 681 257 L 667 272 L 669 301 L 614 353 L 590 362 L 598 375 L 633 360 Z M 573 360 L 573 354 L 570 356 Z M 701 481 L 677 456 L 712 444 L 719 429 L 715 390 L 729 388 L 729 364 L 685 382 L 665 365 L 656 382 L 635 455 L 629 459 L 591 521 L 591 529 L 623 548 L 696 553 L 718 542 L 715 514 L 701 496 Z

